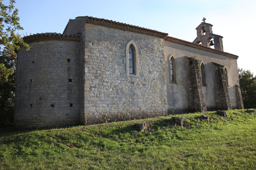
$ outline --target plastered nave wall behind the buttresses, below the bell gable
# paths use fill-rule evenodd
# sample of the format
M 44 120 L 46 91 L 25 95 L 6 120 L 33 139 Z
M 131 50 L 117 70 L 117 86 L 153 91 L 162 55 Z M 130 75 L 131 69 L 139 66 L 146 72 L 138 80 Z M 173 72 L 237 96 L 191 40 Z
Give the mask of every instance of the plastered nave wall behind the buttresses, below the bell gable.
M 169 41 L 164 41 L 164 55 L 166 65 L 166 86 L 168 96 L 168 113 L 188 112 L 188 77 L 185 56 L 197 56 L 200 64 L 205 66 L 206 86 L 203 86 L 207 111 L 216 110 L 215 103 L 215 65 L 213 62 L 224 65 L 228 73 L 228 93 L 233 109 L 237 108 L 235 85 L 237 84 L 237 60 L 211 52 L 198 50 Z M 176 64 L 176 83 L 170 83 L 169 58 L 174 57 Z

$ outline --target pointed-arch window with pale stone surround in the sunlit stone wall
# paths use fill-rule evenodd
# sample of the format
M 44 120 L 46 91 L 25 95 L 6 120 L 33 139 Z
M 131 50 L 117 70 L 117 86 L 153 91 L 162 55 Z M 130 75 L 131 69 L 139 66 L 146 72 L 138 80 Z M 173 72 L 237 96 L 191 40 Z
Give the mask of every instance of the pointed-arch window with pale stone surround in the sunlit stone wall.
M 139 77 L 137 46 L 133 40 L 126 45 L 126 76 Z

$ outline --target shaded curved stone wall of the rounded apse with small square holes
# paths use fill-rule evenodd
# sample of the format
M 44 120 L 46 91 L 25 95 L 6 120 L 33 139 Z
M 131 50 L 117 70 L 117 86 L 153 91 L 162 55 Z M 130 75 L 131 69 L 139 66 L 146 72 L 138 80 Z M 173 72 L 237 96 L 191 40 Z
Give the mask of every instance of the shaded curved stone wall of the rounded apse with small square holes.
M 30 50 L 18 52 L 15 127 L 78 124 L 79 42 L 51 40 L 29 45 Z

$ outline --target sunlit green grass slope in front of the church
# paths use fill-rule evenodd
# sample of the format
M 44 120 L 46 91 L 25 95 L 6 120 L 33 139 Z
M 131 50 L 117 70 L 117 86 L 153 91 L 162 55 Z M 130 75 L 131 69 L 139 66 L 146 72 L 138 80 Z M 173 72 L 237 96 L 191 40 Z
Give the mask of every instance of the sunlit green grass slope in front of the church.
M 238 112 L 240 115 L 233 114 Z M 256 169 L 256 115 L 182 114 L 98 126 L 0 132 L 0 169 Z M 135 122 L 150 130 L 137 132 Z M 4 131 L 4 132 L 3 132 Z

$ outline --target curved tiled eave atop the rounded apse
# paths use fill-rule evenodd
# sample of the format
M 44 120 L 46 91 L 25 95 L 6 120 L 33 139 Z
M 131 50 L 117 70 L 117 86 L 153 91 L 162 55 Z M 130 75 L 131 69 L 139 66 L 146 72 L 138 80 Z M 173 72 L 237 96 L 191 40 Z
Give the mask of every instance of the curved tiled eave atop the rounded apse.
M 24 42 L 30 43 L 35 41 L 49 41 L 49 40 L 59 40 L 59 41 L 80 41 L 80 35 L 73 34 L 61 34 L 61 33 L 37 33 L 23 37 Z

